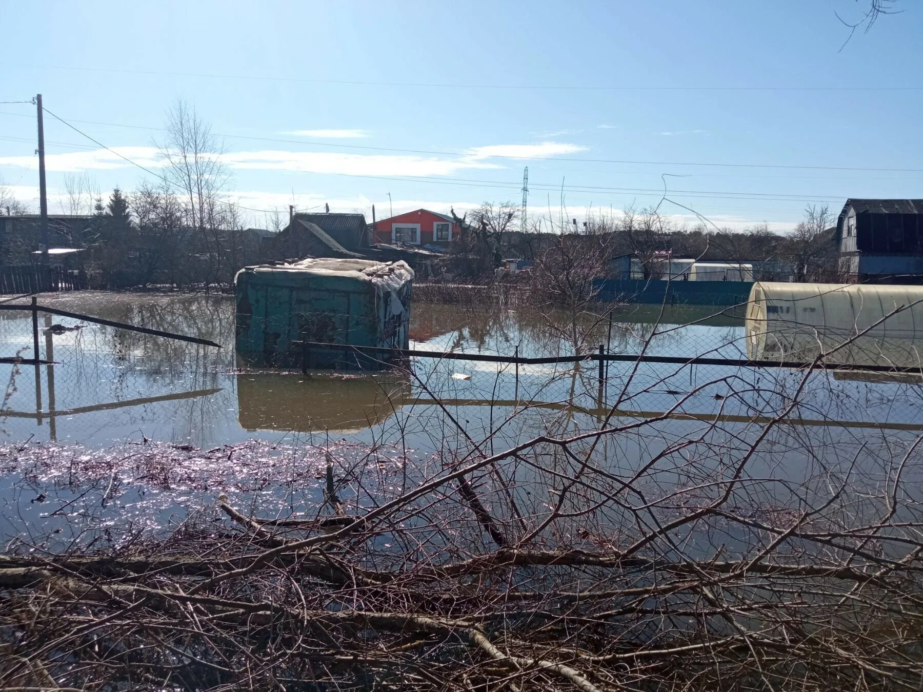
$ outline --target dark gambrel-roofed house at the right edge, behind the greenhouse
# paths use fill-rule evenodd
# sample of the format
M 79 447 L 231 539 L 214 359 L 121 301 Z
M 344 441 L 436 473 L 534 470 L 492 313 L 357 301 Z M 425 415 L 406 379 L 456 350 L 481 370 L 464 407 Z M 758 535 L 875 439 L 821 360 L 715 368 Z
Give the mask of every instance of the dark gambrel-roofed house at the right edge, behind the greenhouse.
M 851 280 L 923 278 L 923 199 L 847 199 L 834 234 L 840 271 Z

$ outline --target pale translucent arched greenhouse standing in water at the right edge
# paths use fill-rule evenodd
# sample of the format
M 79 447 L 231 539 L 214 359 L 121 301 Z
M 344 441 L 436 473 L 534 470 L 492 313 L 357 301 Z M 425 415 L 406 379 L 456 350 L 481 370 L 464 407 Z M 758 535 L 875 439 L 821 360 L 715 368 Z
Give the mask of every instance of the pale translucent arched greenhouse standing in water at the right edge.
M 923 286 L 759 281 L 746 329 L 754 360 L 920 367 Z

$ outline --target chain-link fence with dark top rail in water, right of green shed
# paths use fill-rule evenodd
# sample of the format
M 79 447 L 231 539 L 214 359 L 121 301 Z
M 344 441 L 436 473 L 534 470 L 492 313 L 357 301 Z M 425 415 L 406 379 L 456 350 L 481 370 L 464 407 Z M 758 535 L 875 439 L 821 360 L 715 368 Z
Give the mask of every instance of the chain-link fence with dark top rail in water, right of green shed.
M 586 424 L 629 417 L 923 430 L 923 369 L 919 367 L 857 367 L 825 363 L 820 357 L 811 362 L 786 362 L 616 353 L 606 352 L 602 344 L 595 352 L 582 355 L 543 357 L 324 342 L 304 346 L 350 353 L 359 364 L 399 356 L 409 363 L 406 372 L 414 381 L 403 393 L 390 395 L 388 406 L 397 402 L 461 407 L 460 420 L 469 422 L 476 417 L 474 410 L 486 407 L 491 413 L 487 414 L 490 420 L 482 422 L 485 428 L 496 422 L 495 410 L 507 409 L 569 412 L 588 417 Z

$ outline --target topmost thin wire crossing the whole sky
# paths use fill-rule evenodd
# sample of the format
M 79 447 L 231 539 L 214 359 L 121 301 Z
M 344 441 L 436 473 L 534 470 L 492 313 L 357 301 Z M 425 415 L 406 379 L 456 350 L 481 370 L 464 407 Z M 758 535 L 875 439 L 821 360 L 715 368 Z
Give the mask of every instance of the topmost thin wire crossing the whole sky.
M 440 82 L 395 82 L 366 79 L 316 79 L 300 77 L 270 77 L 266 75 L 222 75 L 205 72 L 162 72 L 157 70 L 128 70 L 114 67 L 80 67 L 61 65 L 24 65 L 0 62 L 0 65 L 30 69 L 73 70 L 102 72 L 119 75 L 150 75 L 152 77 L 195 77 L 205 79 L 242 79 L 247 81 L 299 82 L 304 84 L 346 84 L 361 87 L 426 87 L 433 89 L 498 89 L 498 90 L 555 90 L 555 91 L 923 91 L 923 87 L 704 87 L 704 86 L 607 86 L 607 85 L 549 85 L 549 84 L 460 84 Z

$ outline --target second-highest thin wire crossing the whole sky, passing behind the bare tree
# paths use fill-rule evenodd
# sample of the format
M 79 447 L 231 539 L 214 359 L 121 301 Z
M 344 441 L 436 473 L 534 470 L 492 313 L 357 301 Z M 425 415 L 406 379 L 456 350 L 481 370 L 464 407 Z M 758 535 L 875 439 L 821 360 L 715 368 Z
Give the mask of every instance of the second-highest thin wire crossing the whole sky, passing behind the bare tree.
M 0 113 L 4 115 L 22 115 L 22 113 Z M 62 121 L 63 122 L 63 121 Z M 94 120 L 74 120 L 75 123 L 87 125 L 107 125 L 113 127 L 130 127 L 133 129 L 154 130 L 162 132 L 162 127 L 150 127 L 145 125 L 122 125 L 119 123 L 104 123 Z M 82 133 L 81 133 L 82 134 Z M 85 136 L 86 137 L 86 136 Z M 215 137 L 224 137 L 228 139 L 252 139 L 264 142 L 282 142 L 285 144 L 300 144 L 309 147 L 330 147 L 335 149 L 366 149 L 370 151 L 395 151 L 398 153 L 410 154 L 427 154 L 438 156 L 458 156 L 462 158 L 477 159 L 509 159 L 513 161 L 568 161 L 578 163 L 628 163 L 632 165 L 645 166 L 707 166 L 714 168 L 771 168 L 782 170 L 809 170 L 809 171 L 858 171 L 873 173 L 923 173 L 923 168 L 873 168 L 868 166 L 816 166 L 816 165 L 798 165 L 782 163 L 714 163 L 710 161 L 640 161 L 640 160 L 623 160 L 623 159 L 580 159 L 564 156 L 522 156 L 509 154 L 483 154 L 474 150 L 471 151 L 442 151 L 439 149 L 399 149 L 396 147 L 371 147 L 359 144 L 335 144 L 332 142 L 316 142 L 303 139 L 281 139 L 277 137 L 248 137 L 246 135 L 222 135 L 215 133 Z M 477 149 L 477 148 L 475 148 Z

